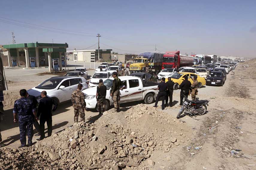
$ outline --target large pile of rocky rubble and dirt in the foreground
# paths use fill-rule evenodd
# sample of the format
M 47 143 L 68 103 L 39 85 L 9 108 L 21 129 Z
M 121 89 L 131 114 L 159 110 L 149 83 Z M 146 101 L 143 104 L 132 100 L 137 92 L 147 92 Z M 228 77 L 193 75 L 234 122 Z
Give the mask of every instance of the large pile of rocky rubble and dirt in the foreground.
M 187 142 L 183 141 L 183 128 L 177 129 L 177 124 L 182 127 L 184 123 L 174 121 L 165 112 L 144 104 L 119 113 L 111 109 L 95 123 L 75 123 L 31 147 L 3 152 L 0 165 L 22 169 L 27 164 L 17 165 L 15 160 L 19 159 L 31 162 L 31 169 L 149 169 L 154 163 L 145 160 L 155 150 L 171 152 Z

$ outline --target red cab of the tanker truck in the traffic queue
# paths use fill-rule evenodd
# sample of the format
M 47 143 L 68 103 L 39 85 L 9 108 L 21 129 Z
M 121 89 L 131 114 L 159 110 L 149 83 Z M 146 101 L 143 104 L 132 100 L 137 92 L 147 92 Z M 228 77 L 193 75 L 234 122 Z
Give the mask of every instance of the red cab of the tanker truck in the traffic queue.
M 179 68 L 180 66 L 180 51 L 167 51 L 163 55 L 162 69 L 164 68 Z

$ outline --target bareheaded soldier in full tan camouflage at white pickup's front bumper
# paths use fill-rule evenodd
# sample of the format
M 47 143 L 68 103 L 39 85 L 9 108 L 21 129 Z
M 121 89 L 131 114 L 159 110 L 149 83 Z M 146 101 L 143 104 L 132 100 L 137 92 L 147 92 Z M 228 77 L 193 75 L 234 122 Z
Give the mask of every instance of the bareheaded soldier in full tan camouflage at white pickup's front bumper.
M 73 103 L 74 108 L 74 122 L 78 122 L 78 116 L 80 116 L 81 122 L 84 122 L 84 109 L 86 107 L 86 103 L 84 101 L 84 93 L 81 92 L 83 88 L 82 84 L 78 84 L 77 89 L 72 92 L 71 101 Z

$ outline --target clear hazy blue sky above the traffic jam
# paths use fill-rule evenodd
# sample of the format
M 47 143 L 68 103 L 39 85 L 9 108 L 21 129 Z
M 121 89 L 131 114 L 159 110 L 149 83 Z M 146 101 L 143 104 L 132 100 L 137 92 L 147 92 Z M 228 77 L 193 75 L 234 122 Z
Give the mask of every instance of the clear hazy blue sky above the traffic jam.
M 0 44 L 68 43 L 139 54 L 180 50 L 255 58 L 255 0 L 83 0 L 1 2 Z

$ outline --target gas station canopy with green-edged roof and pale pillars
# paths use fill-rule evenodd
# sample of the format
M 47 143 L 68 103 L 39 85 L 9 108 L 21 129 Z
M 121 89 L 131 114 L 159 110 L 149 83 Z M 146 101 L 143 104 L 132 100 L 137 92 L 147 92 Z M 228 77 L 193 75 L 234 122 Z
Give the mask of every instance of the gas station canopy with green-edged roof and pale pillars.
M 35 60 L 35 67 L 48 66 L 52 71 L 52 59 L 59 59 L 59 69 L 62 70 L 62 56 L 66 62 L 66 48 L 68 44 L 53 43 L 23 43 L 3 45 L 7 51 L 3 52 L 8 61 L 8 66 L 13 66 L 16 59 L 17 66 L 25 64 L 31 67 L 31 60 Z M 24 50 L 24 51 L 23 51 Z M 5 59 L 5 57 L 3 57 Z

